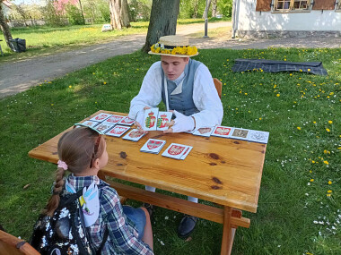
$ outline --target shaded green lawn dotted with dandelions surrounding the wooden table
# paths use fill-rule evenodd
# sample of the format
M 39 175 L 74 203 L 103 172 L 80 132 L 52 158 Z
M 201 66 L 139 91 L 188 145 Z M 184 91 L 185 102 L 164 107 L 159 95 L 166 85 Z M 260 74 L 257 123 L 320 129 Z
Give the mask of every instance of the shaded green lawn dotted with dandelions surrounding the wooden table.
M 232 72 L 236 58 L 322 61 L 328 76 Z M 341 254 L 341 49 L 214 49 L 195 59 L 223 81 L 224 125 L 270 132 L 258 212 L 244 213 L 251 225 L 237 230 L 232 254 Z M 127 113 L 157 60 L 120 55 L 1 99 L 0 224 L 9 233 L 30 238 L 54 181 L 56 166 L 28 152 L 100 109 Z M 155 254 L 219 254 L 222 225 L 199 220 L 184 242 L 179 213 L 154 216 Z

